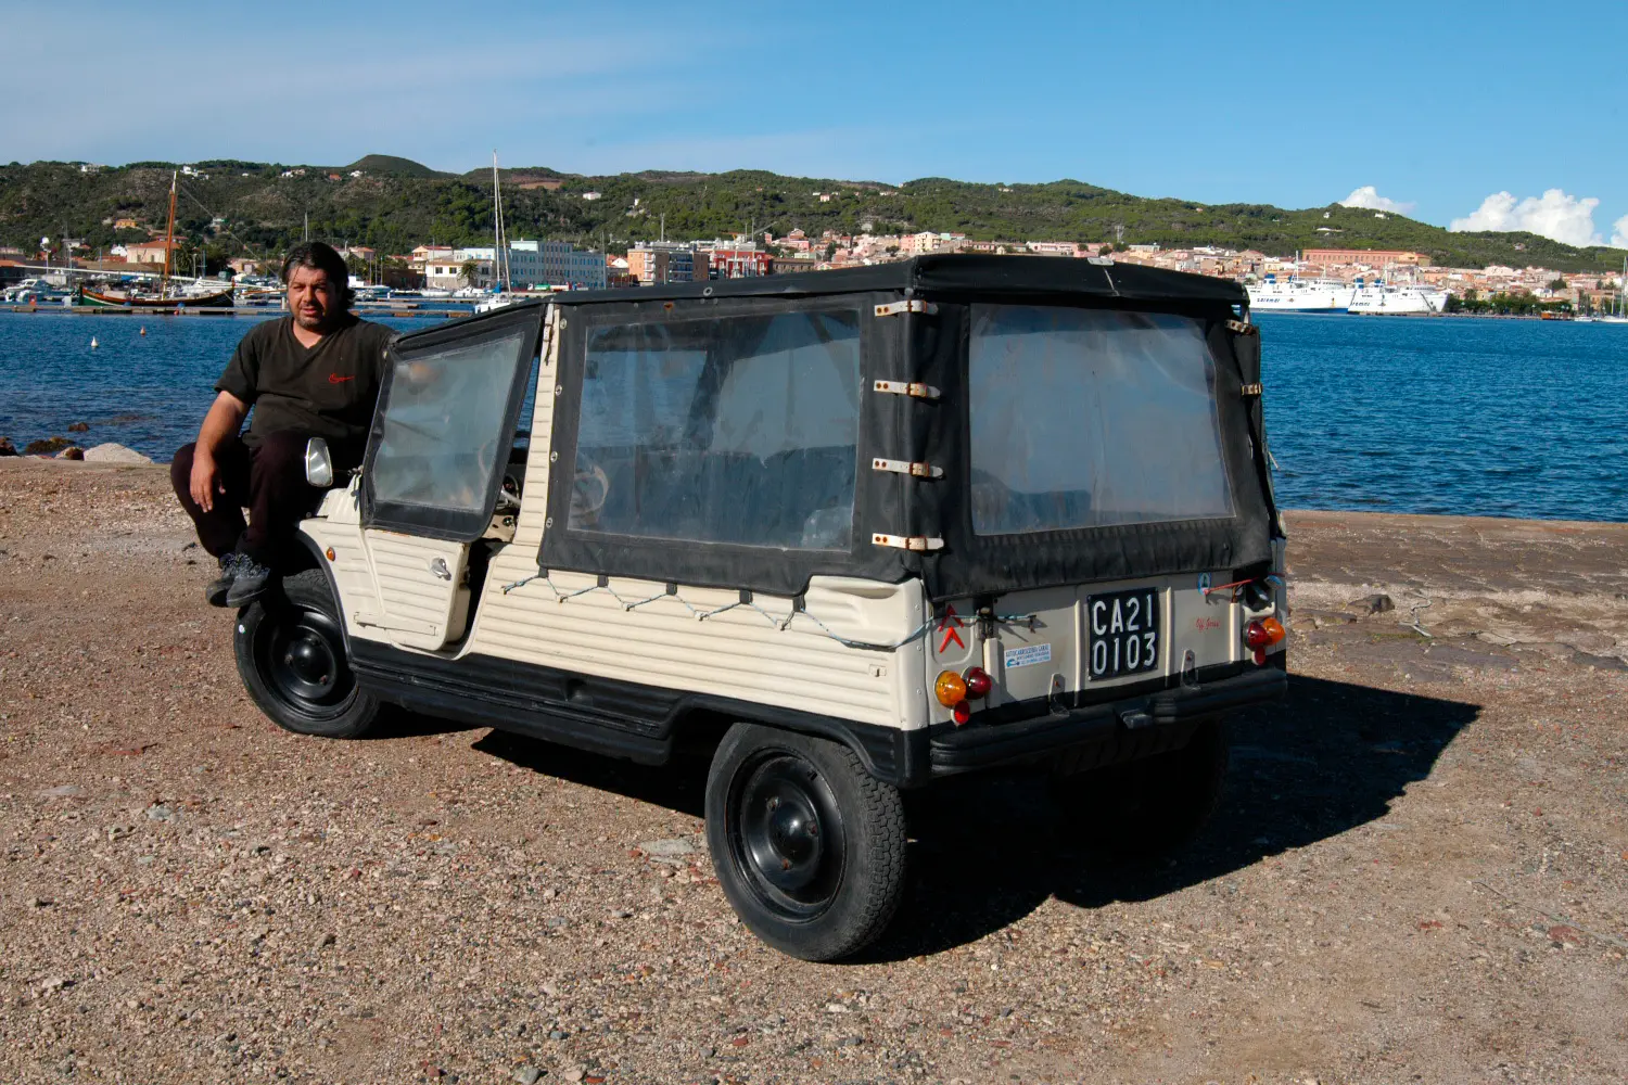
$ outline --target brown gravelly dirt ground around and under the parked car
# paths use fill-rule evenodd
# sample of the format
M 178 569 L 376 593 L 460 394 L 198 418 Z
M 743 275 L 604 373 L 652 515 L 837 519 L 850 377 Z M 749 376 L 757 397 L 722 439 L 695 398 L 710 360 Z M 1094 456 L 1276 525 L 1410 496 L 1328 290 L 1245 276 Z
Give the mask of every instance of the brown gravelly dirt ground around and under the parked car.
M 917 797 L 851 965 L 734 922 L 695 773 L 278 730 L 187 527 L 163 468 L 0 460 L 3 1082 L 1628 1075 L 1628 527 L 1294 516 L 1203 839 Z

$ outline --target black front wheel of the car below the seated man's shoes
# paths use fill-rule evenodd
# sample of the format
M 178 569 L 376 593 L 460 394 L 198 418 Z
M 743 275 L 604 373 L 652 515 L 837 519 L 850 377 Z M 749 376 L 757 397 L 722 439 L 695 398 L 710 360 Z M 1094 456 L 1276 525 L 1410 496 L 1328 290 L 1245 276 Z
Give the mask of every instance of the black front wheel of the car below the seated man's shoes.
M 272 722 L 301 735 L 355 739 L 379 701 L 357 685 L 322 569 L 283 577 L 238 612 L 238 675 Z

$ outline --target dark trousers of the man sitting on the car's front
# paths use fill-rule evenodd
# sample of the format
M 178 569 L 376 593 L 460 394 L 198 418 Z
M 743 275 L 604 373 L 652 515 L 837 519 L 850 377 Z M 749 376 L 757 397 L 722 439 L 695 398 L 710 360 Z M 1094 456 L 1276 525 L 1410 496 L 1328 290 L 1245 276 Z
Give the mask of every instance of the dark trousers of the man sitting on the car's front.
M 309 434 L 269 433 L 249 447 L 239 438 L 228 438 L 215 452 L 215 470 L 225 493 L 215 493 L 215 508 L 205 512 L 192 499 L 192 454 L 195 444 L 182 446 L 169 462 L 169 481 L 199 529 L 199 543 L 221 558 L 241 553 L 277 569 L 288 563 L 290 547 L 300 521 L 309 516 L 322 498 L 322 490 L 304 477 L 304 447 Z M 334 475 L 355 465 L 352 457 L 334 457 Z M 358 457 L 360 459 L 360 457 Z M 249 509 L 244 522 L 243 509 Z

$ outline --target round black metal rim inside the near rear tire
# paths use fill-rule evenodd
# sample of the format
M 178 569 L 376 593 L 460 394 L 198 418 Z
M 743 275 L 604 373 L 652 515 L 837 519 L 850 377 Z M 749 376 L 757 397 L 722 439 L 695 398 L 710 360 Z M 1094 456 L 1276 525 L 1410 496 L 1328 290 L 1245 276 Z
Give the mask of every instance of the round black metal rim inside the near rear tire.
M 731 787 L 729 851 L 752 891 L 783 919 L 806 921 L 837 896 L 845 864 L 842 812 L 804 758 L 773 752 Z

